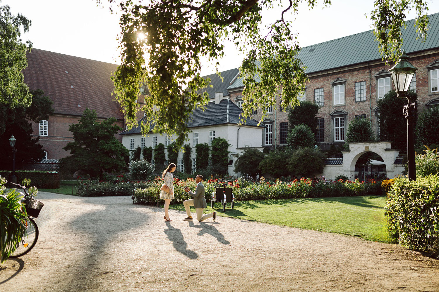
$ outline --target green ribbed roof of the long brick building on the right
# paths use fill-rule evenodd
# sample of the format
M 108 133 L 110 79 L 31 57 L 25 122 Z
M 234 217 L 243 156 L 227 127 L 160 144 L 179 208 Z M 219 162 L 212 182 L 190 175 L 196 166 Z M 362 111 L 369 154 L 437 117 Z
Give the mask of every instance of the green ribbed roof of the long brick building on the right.
M 428 17 L 430 28 L 426 42 L 416 39 L 414 19 L 406 21 L 407 28 L 401 29 L 403 34 L 402 48 L 407 53 L 439 47 L 439 13 L 431 14 Z M 378 42 L 374 41 L 371 30 L 303 47 L 298 56 L 307 67 L 307 74 L 381 60 Z M 243 87 L 242 79 L 242 77 L 237 78 L 227 89 Z

